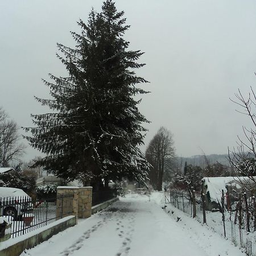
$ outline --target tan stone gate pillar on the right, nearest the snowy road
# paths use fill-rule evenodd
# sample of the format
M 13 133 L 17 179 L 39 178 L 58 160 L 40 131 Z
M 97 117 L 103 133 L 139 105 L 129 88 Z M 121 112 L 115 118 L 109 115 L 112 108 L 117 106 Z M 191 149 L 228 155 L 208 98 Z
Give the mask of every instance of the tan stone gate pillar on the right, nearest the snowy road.
M 92 187 L 79 188 L 78 217 L 88 218 L 92 215 Z

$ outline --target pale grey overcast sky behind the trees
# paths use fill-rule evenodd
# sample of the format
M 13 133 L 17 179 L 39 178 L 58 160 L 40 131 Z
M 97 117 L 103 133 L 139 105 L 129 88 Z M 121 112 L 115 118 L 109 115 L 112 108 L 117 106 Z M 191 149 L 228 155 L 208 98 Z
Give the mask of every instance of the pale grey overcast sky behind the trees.
M 56 43 L 74 46 L 69 31 L 86 22 L 99 0 L 13 0 L 0 2 L 0 106 L 19 126 L 30 114 L 46 113 L 33 96 L 48 97 L 41 81 L 60 76 Z M 237 113 L 238 88 L 248 93 L 256 77 L 254 0 L 117 0 L 131 27 L 125 38 L 141 49 L 137 71 L 150 81 L 139 109 L 150 124 L 144 151 L 160 126 L 174 135 L 176 154 L 226 154 L 247 117 Z M 23 132 L 23 131 L 22 131 Z M 201 149 L 200 149 L 201 148 Z M 39 153 L 27 148 L 26 159 Z

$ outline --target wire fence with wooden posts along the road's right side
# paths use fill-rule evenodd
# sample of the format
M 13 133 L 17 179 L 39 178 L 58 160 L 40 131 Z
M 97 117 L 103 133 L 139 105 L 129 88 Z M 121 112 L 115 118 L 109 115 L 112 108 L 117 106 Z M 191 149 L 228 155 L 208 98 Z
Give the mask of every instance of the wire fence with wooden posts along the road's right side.
M 247 255 L 256 256 L 255 197 L 248 196 L 246 191 L 235 196 L 234 193 L 220 193 L 220 201 L 213 202 L 195 191 L 189 194 L 171 189 L 170 193 L 165 193 L 165 200 L 245 249 Z

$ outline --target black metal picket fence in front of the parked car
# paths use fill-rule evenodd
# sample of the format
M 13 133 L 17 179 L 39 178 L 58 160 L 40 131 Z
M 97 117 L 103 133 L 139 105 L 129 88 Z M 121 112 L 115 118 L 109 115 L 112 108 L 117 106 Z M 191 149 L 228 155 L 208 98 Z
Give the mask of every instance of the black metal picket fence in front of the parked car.
M 29 196 L 0 197 L 0 216 L 12 222 L 11 237 L 17 237 L 72 215 L 71 197 L 68 194 L 40 200 Z

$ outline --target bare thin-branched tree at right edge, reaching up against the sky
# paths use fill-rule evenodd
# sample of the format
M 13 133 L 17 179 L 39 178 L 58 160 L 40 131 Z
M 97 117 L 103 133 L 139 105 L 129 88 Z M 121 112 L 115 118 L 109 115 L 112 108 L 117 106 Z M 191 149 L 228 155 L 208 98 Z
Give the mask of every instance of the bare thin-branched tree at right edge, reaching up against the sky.
M 252 127 L 250 129 L 247 129 L 245 126 L 242 127 L 245 139 L 243 140 L 238 137 L 237 147 L 233 147 L 232 150 L 229 148 L 229 162 L 236 171 L 237 176 L 247 176 L 255 183 L 256 95 L 253 88 L 251 88 L 248 96 L 243 96 L 240 90 L 238 90 L 235 96 L 236 100 L 231 99 L 231 101 L 240 106 L 241 110 L 237 110 L 237 112 L 247 115 L 251 120 Z

